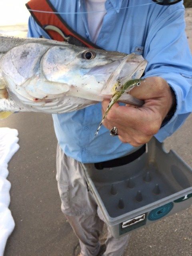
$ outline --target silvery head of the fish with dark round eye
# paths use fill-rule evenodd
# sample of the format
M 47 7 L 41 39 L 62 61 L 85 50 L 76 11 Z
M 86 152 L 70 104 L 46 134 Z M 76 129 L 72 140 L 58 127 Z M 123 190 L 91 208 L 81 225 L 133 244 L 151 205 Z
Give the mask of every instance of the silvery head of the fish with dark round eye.
M 46 80 L 68 84 L 70 90 L 66 94 L 101 101 L 104 94 L 112 94 L 118 80 L 140 78 L 146 63 L 137 54 L 66 44 L 54 46 L 44 54 L 42 70 Z

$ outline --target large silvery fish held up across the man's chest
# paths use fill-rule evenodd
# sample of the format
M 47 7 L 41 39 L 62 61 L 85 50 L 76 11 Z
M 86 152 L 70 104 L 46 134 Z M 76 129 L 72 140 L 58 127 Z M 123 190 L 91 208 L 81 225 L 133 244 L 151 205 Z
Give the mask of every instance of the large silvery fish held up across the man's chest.
M 140 78 L 146 66 L 136 53 L 0 35 L 0 118 L 12 112 L 60 114 L 110 100 L 115 84 Z M 118 101 L 143 104 L 128 93 Z

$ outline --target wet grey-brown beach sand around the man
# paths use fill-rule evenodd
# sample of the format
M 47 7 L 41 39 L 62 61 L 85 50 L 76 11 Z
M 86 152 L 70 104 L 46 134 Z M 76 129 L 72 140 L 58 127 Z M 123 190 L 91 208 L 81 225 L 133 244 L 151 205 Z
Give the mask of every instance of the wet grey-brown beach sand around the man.
M 192 50 L 192 8 L 186 10 L 186 32 Z M 7 27 L 0 27 L 6 31 Z M 14 28 L 10 27 L 12 32 Z M 21 35 L 26 26 L 17 27 Z M 55 180 L 56 138 L 48 114 L 18 113 L 1 127 L 19 131 L 20 150 L 9 164 L 10 210 L 16 228 L 4 256 L 72 256 L 78 240 L 60 211 Z M 192 166 L 192 116 L 165 142 Z M 132 233 L 124 256 L 192 255 L 192 207 Z

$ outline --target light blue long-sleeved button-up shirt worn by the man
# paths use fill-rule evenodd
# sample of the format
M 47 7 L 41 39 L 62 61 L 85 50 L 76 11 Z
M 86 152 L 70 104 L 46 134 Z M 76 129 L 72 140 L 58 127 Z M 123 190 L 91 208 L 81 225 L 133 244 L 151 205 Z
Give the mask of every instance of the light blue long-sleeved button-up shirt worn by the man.
M 58 12 L 69 12 L 60 15 L 71 28 L 91 40 L 86 14 L 72 14 L 85 11 L 84 0 L 50 2 Z M 106 50 L 142 54 L 148 61 L 145 77 L 160 76 L 175 92 L 176 112 L 155 135 L 162 142 L 192 112 L 192 57 L 184 31 L 184 6 L 182 2 L 160 6 L 152 0 L 106 0 L 105 6 L 107 13 L 96 44 Z M 49 38 L 30 17 L 28 36 L 40 35 Z M 134 150 L 118 136 L 110 136 L 104 126 L 92 140 L 101 119 L 100 103 L 70 113 L 54 114 L 54 128 L 62 150 L 84 163 L 118 158 Z

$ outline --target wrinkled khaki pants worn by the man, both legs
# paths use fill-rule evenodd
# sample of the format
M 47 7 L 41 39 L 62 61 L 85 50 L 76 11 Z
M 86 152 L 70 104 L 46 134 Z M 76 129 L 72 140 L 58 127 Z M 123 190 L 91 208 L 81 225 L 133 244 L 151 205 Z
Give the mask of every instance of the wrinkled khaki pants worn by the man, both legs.
M 88 191 L 82 164 L 57 148 L 58 190 L 61 209 L 79 239 L 81 256 L 96 256 L 100 250 L 99 235 L 105 222 L 92 193 Z M 122 256 L 129 235 L 114 238 L 108 228 L 103 256 Z

